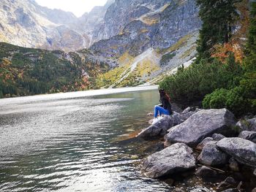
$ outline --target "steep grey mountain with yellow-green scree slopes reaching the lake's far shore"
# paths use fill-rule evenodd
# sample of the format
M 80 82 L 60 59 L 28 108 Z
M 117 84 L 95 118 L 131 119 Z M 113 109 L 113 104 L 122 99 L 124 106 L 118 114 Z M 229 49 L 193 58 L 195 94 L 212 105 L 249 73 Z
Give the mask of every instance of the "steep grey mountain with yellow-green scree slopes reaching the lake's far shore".
M 201 21 L 193 0 L 115 1 L 108 8 L 104 23 L 104 30 L 99 33 L 113 37 L 95 42 L 89 50 L 116 58 L 119 65 L 115 69 L 118 75 L 108 72 L 100 77 L 102 86 L 157 82 L 195 57 Z

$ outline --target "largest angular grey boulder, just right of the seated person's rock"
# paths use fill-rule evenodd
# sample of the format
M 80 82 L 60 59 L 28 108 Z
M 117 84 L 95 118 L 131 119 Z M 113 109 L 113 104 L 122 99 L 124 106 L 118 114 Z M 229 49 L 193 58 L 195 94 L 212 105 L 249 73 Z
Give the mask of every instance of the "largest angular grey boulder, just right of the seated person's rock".
M 165 144 L 183 142 L 195 147 L 212 134 L 232 135 L 234 133 L 232 127 L 235 125 L 236 120 L 229 110 L 200 110 L 184 123 L 170 128 L 169 133 L 165 135 Z

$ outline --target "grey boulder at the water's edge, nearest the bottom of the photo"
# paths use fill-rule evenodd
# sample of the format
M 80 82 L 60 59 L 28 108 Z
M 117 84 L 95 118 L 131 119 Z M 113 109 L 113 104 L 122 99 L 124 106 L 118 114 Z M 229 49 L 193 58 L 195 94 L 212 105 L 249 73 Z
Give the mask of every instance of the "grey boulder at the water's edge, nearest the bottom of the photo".
M 183 143 L 176 143 L 143 161 L 142 171 L 147 177 L 157 178 L 176 172 L 195 168 L 192 148 Z

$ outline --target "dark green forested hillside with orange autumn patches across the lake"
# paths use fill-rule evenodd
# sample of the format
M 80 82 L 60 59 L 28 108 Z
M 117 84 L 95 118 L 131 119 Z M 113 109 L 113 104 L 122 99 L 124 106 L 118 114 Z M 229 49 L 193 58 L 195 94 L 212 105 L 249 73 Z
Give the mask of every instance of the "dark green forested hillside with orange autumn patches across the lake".
M 64 53 L 0 43 L 0 97 L 86 90 L 108 69 L 87 50 Z

